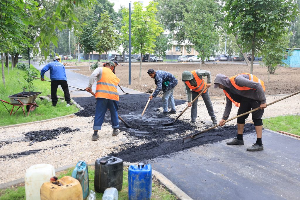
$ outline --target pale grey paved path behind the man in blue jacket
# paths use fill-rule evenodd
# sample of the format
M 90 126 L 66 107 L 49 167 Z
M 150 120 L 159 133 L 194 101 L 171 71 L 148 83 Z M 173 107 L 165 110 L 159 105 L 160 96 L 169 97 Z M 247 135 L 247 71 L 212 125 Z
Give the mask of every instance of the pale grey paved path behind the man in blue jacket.
M 42 68 L 45 66 L 45 64 L 33 64 L 33 66 L 38 69 L 39 71 L 42 70 Z M 73 69 L 72 67 L 66 67 L 66 75 L 67 75 L 67 81 L 68 81 L 68 85 L 74 86 L 76 88 L 82 88 L 85 89 L 88 85 L 88 81 L 89 81 L 89 77 L 88 76 L 84 76 L 82 74 L 79 73 L 75 73 L 75 72 L 71 72 L 70 70 L 77 70 L 77 69 Z M 45 75 L 48 77 L 48 79 L 50 79 L 50 73 L 49 71 L 47 71 L 45 73 Z M 38 76 L 40 77 L 40 76 Z M 49 83 L 49 87 L 50 87 L 50 83 Z M 60 86 L 59 86 L 60 87 Z M 122 87 L 122 86 L 121 86 Z M 96 84 L 94 83 L 93 87 L 92 87 L 93 91 L 96 90 Z M 140 94 L 142 92 L 137 91 L 137 90 L 132 90 L 129 88 L 125 88 L 122 87 L 122 89 L 130 94 Z M 75 88 L 71 88 L 69 87 L 69 91 L 73 91 L 76 90 Z M 118 87 L 118 92 L 120 95 L 125 94 L 122 92 L 122 90 Z M 86 91 L 74 91 L 74 92 L 70 92 L 71 97 L 90 97 L 91 94 L 89 94 Z

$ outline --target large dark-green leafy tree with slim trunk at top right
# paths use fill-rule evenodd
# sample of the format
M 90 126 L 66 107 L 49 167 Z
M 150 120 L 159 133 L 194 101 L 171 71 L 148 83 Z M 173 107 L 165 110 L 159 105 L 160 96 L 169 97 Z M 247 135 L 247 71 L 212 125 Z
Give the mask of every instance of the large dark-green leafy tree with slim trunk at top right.
M 293 0 L 227 0 L 223 11 L 227 34 L 237 35 L 244 51 L 252 52 L 250 73 L 254 55 L 268 50 L 267 41 L 279 42 L 299 13 Z

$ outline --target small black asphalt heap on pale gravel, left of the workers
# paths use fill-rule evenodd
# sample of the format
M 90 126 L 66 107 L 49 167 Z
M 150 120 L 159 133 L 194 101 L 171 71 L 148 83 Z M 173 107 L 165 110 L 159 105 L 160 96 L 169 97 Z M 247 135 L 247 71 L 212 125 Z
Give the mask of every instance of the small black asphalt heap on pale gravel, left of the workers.
M 57 139 L 57 136 L 64 133 L 71 133 L 74 131 L 79 131 L 78 128 L 71 129 L 69 127 L 56 128 L 52 130 L 39 130 L 39 131 L 30 131 L 25 133 L 25 139 L 27 141 L 32 141 L 30 144 L 34 142 L 42 142 L 46 140 Z

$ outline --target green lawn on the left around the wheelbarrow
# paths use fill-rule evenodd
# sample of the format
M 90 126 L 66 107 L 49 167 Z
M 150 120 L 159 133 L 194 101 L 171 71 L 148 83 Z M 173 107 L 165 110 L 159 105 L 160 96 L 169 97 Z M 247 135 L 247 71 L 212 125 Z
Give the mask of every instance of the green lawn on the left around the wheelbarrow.
M 11 64 L 10 64 L 11 65 Z M 32 69 L 34 67 L 30 66 Z M 0 68 L 0 73 L 2 74 L 2 69 Z M 2 79 L 0 82 L 0 99 L 5 100 L 7 102 L 10 102 L 8 96 L 17 94 L 19 92 L 22 92 L 22 86 L 27 85 L 25 83 L 25 80 L 23 79 L 23 76 L 26 74 L 25 71 L 18 70 L 17 68 L 13 68 L 13 70 L 9 70 L 9 75 L 7 75 L 7 67 L 4 67 L 4 73 L 5 73 L 5 85 L 3 85 Z M 37 70 L 38 77 L 40 72 Z M 17 82 L 17 80 L 20 80 L 21 84 Z M 49 79 L 46 77 L 46 79 Z M 46 96 L 47 94 L 51 94 L 50 90 L 50 83 L 46 81 L 41 81 L 36 79 L 33 83 L 34 91 L 42 92 L 39 96 Z M 64 97 L 63 91 L 61 89 L 57 90 L 57 95 L 60 97 Z M 72 105 L 70 107 L 65 107 L 66 102 L 60 102 L 58 100 L 58 103 L 56 107 L 52 107 L 52 103 L 48 102 L 46 100 L 41 101 L 39 97 L 35 100 L 35 102 L 38 104 L 38 108 L 35 109 L 35 111 L 30 112 L 29 117 L 24 117 L 24 114 L 22 112 L 22 109 L 20 108 L 14 115 L 9 115 L 7 110 L 5 109 L 2 102 L 0 102 L 0 126 L 6 126 L 11 124 L 19 124 L 19 123 L 26 123 L 26 122 L 32 122 L 32 121 L 39 121 L 44 119 L 50 119 L 55 117 L 60 117 L 64 115 L 70 115 L 75 112 L 78 112 L 78 108 L 76 108 L 75 105 Z M 12 105 L 9 105 L 7 103 L 4 103 L 7 109 L 10 111 L 12 109 Z M 14 108 L 14 111 L 16 111 L 16 108 Z M 27 115 L 27 111 L 25 108 L 25 112 Z

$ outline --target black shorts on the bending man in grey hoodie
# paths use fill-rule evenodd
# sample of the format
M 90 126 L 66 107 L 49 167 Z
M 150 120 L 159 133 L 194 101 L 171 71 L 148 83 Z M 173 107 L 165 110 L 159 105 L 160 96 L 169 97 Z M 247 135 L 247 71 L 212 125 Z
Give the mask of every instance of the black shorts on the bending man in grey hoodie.
M 256 109 L 260 106 L 260 101 L 245 98 L 241 100 L 240 107 L 238 108 L 238 115 L 243 114 L 245 112 L 248 112 L 250 110 Z M 262 115 L 263 115 L 264 109 L 259 109 L 254 112 L 252 112 L 252 120 L 254 123 L 254 126 L 262 126 Z M 237 123 L 238 124 L 245 124 L 246 119 L 249 117 L 249 114 L 238 117 Z

